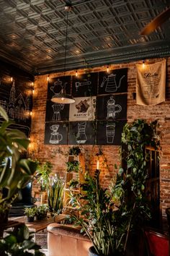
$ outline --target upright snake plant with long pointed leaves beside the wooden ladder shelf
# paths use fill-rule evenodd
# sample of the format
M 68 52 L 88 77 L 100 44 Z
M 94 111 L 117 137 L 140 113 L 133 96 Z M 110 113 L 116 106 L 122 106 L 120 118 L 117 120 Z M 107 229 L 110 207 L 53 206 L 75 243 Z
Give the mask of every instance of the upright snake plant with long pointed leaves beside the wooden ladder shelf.
M 63 178 L 57 174 L 50 176 L 48 182 L 48 207 L 52 215 L 62 213 L 64 184 Z

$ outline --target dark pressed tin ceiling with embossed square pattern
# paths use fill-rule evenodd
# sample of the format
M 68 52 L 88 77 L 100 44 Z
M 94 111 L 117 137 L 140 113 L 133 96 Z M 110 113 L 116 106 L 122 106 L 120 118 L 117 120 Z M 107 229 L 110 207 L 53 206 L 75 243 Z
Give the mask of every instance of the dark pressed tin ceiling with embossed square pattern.
M 72 0 L 66 70 L 170 56 L 170 21 L 140 30 L 170 0 Z M 64 0 L 0 0 L 0 58 L 32 74 L 63 71 Z

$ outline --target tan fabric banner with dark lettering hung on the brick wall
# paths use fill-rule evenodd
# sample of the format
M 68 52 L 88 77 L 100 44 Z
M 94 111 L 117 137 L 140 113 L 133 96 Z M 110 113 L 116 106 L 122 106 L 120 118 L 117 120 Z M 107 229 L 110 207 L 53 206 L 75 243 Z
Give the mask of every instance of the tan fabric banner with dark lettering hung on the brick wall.
M 136 64 L 136 103 L 148 106 L 165 101 L 166 60 L 155 64 Z

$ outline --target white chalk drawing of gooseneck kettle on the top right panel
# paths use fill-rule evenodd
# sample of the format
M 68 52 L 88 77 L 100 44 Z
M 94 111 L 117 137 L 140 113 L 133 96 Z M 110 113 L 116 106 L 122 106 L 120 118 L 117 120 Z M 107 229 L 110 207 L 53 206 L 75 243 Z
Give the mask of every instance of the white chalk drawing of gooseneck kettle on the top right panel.
M 100 87 L 104 87 L 104 85 L 106 84 L 106 88 L 105 88 L 106 93 L 115 93 L 117 89 L 120 88 L 122 79 L 125 77 L 125 74 L 122 77 L 120 77 L 120 82 L 118 85 L 115 77 L 116 77 L 116 74 L 109 74 L 108 77 L 103 77 L 103 81 Z

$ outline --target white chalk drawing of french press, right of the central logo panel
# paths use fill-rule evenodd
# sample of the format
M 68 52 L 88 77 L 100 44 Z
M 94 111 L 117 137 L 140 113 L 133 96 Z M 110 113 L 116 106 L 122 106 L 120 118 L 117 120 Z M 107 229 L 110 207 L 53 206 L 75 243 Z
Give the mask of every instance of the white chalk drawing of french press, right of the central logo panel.
M 122 111 L 122 107 L 119 104 L 115 104 L 113 96 L 110 96 L 107 101 L 107 119 L 115 119 L 115 115 Z

